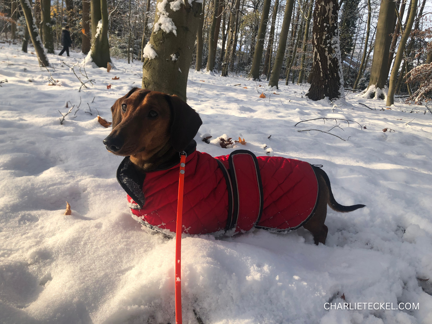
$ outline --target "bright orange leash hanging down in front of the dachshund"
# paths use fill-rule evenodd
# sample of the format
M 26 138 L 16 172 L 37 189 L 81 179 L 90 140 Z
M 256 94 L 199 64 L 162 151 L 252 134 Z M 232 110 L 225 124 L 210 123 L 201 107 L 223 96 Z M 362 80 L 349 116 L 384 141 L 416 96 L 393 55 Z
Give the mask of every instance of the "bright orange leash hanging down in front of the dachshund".
M 184 166 L 186 153 L 180 153 L 178 178 L 177 226 L 175 228 L 175 323 L 181 324 L 181 218 L 183 216 Z

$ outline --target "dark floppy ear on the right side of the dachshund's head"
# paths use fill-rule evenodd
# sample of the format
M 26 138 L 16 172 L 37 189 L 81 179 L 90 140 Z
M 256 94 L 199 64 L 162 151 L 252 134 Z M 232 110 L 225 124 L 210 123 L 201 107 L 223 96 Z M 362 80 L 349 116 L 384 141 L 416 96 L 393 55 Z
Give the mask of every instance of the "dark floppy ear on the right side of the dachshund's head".
M 177 152 L 182 152 L 203 122 L 200 115 L 177 95 L 166 98 L 172 109 L 171 144 Z

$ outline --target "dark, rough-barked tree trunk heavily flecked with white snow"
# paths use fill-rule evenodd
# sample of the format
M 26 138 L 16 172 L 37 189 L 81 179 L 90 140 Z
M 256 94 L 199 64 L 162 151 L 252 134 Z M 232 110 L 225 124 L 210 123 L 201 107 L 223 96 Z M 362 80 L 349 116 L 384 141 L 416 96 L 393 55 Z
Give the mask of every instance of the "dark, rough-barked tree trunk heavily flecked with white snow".
M 340 98 L 343 95 L 342 62 L 339 48 L 337 21 L 338 3 L 317 0 L 314 10 L 313 47 L 314 61 L 311 87 L 306 94 L 314 101 Z

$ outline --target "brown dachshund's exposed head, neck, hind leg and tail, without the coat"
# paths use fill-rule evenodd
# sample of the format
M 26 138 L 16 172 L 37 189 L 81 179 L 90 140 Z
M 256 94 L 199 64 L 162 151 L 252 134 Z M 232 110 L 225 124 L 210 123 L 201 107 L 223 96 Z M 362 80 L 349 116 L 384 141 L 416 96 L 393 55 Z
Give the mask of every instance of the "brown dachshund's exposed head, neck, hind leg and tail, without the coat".
M 111 107 L 112 131 L 103 143 L 119 156 L 130 156 L 142 174 L 164 165 L 180 162 L 182 152 L 196 135 L 202 122 L 199 115 L 176 95 L 133 88 Z M 316 245 L 325 244 L 327 204 L 337 212 L 350 212 L 365 205 L 343 206 L 336 202 L 327 174 L 313 167 L 318 178 L 315 213 L 303 227 L 310 231 Z

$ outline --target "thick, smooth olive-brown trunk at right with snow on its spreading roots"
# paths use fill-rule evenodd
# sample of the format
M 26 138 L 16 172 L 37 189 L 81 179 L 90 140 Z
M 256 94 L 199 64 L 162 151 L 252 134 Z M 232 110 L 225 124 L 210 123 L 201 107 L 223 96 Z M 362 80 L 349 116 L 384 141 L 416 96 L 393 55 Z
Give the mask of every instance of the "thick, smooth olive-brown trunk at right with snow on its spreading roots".
M 381 0 L 368 88 L 375 86 L 377 89 L 383 89 L 387 82 L 388 54 L 392 39 L 390 34 L 393 32 L 391 23 L 393 22 L 394 8 L 396 8 L 394 2 Z M 375 92 L 371 94 L 371 98 L 374 96 Z M 382 95 L 381 99 L 384 99 L 384 95 Z

